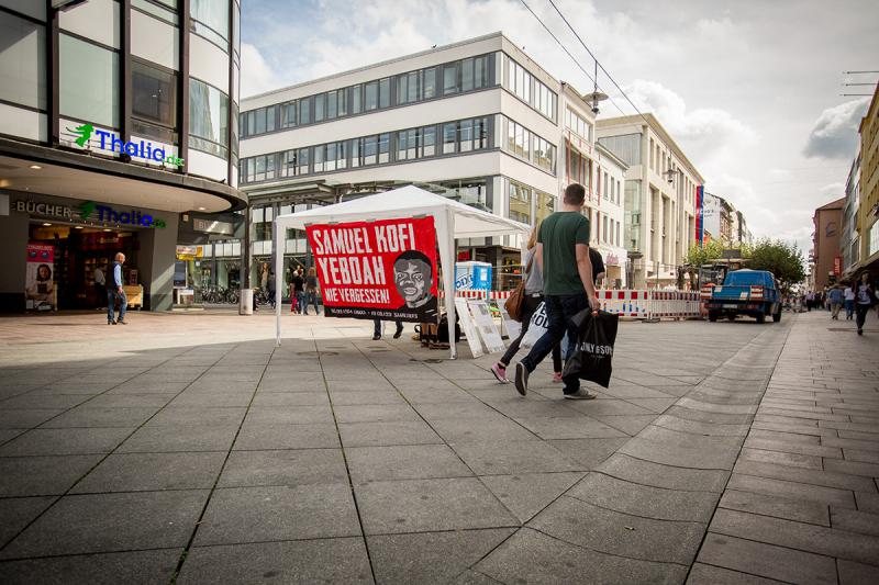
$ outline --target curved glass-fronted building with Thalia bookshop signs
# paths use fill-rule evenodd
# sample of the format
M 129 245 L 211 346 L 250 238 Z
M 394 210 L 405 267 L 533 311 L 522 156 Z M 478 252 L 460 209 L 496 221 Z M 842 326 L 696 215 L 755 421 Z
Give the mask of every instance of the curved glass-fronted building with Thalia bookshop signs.
M 3 311 L 102 304 L 93 270 L 118 251 L 144 307 L 169 308 L 177 245 L 234 233 L 240 11 L 0 0 Z

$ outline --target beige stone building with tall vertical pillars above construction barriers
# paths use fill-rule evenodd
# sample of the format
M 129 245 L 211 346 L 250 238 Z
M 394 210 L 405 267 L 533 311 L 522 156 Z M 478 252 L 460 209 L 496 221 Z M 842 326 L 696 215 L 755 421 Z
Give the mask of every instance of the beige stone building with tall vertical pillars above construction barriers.
M 704 180 L 650 113 L 599 120 L 598 143 L 628 165 L 625 247 L 630 288 L 674 286 L 696 241 L 697 188 Z

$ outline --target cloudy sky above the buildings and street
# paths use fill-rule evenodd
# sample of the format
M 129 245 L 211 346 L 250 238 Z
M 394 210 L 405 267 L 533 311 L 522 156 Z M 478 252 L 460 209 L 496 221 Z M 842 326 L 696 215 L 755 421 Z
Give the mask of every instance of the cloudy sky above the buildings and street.
M 555 0 L 642 111 L 654 112 L 757 237 L 811 247 L 814 209 L 843 196 L 879 75 L 876 0 Z M 588 71 L 548 0 L 525 0 Z M 580 68 L 521 0 L 244 0 L 242 95 L 503 31 L 586 93 Z M 634 110 L 604 77 L 625 113 Z M 605 102 L 602 114 L 620 115 Z

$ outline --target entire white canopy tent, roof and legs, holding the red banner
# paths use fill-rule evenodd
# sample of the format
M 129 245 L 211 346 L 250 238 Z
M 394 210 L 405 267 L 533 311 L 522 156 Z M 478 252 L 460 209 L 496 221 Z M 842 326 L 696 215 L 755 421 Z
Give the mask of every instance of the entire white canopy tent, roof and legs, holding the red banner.
M 455 240 L 502 235 L 527 235 L 531 226 L 470 207 L 457 201 L 409 185 L 335 205 L 314 207 L 275 218 L 275 277 L 283 274 L 283 241 L 288 229 L 304 229 L 311 224 L 366 222 L 398 217 L 432 216 L 436 226 L 443 288 L 448 315 L 448 338 L 455 339 Z M 281 286 L 275 286 L 277 344 L 281 344 Z M 455 344 L 452 358 L 457 357 Z

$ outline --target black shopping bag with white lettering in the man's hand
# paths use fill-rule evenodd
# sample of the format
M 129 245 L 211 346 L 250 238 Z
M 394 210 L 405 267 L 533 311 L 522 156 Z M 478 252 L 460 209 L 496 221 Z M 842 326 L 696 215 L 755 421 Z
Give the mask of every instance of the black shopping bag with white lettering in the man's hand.
M 612 313 L 587 308 L 574 316 L 577 325 L 577 345 L 568 356 L 561 375 L 576 374 L 608 387 L 611 381 L 613 344 L 616 341 L 619 317 Z

